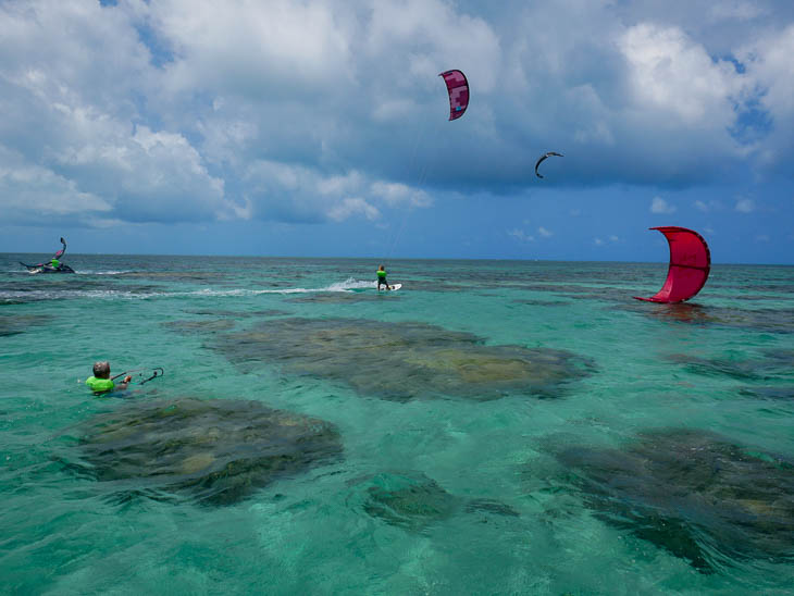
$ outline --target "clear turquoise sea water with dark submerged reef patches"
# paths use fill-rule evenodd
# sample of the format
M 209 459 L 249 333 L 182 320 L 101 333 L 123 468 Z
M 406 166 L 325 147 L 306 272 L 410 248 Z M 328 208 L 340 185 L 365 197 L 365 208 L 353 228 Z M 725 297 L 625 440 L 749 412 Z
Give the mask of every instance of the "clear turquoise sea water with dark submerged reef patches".
M 396 260 L 379 295 L 371 260 L 17 260 L 4 592 L 794 585 L 794 268 L 716 265 L 669 307 L 631 298 L 663 264 Z M 96 360 L 165 374 L 94 397 Z M 229 403 L 177 422 L 194 400 Z

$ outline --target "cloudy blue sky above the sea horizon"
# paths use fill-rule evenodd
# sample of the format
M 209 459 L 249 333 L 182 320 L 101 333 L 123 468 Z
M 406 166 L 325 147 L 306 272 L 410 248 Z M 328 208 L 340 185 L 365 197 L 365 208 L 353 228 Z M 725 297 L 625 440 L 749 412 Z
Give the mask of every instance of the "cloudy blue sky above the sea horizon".
M 790 0 L 0 0 L 0 251 L 793 264 L 792 55 Z

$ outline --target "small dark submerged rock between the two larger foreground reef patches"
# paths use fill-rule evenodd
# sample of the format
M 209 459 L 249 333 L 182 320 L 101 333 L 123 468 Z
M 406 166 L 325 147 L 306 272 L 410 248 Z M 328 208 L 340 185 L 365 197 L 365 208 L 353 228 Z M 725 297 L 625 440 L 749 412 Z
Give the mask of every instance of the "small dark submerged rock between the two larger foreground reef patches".
M 357 507 L 373 518 L 420 532 L 457 513 L 519 517 L 511 507 L 491 499 L 464 499 L 442 488 L 421 472 L 383 472 L 350 483 Z

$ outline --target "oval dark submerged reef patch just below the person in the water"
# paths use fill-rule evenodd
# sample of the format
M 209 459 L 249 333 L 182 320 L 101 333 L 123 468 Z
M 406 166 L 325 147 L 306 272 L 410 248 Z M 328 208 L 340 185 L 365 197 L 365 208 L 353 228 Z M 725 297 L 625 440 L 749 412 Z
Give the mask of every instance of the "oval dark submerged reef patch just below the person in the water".
M 209 505 L 236 502 L 342 455 L 332 424 L 258 401 L 135 402 L 77 429 L 82 473 L 119 493 L 179 493 Z

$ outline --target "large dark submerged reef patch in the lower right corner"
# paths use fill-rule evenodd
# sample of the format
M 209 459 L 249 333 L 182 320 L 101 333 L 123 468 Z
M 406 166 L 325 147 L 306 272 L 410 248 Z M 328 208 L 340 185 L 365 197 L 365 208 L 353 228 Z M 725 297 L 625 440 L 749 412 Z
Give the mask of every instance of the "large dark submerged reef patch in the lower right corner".
M 794 557 L 794 461 L 688 430 L 558 458 L 601 519 L 702 572 L 742 558 Z

